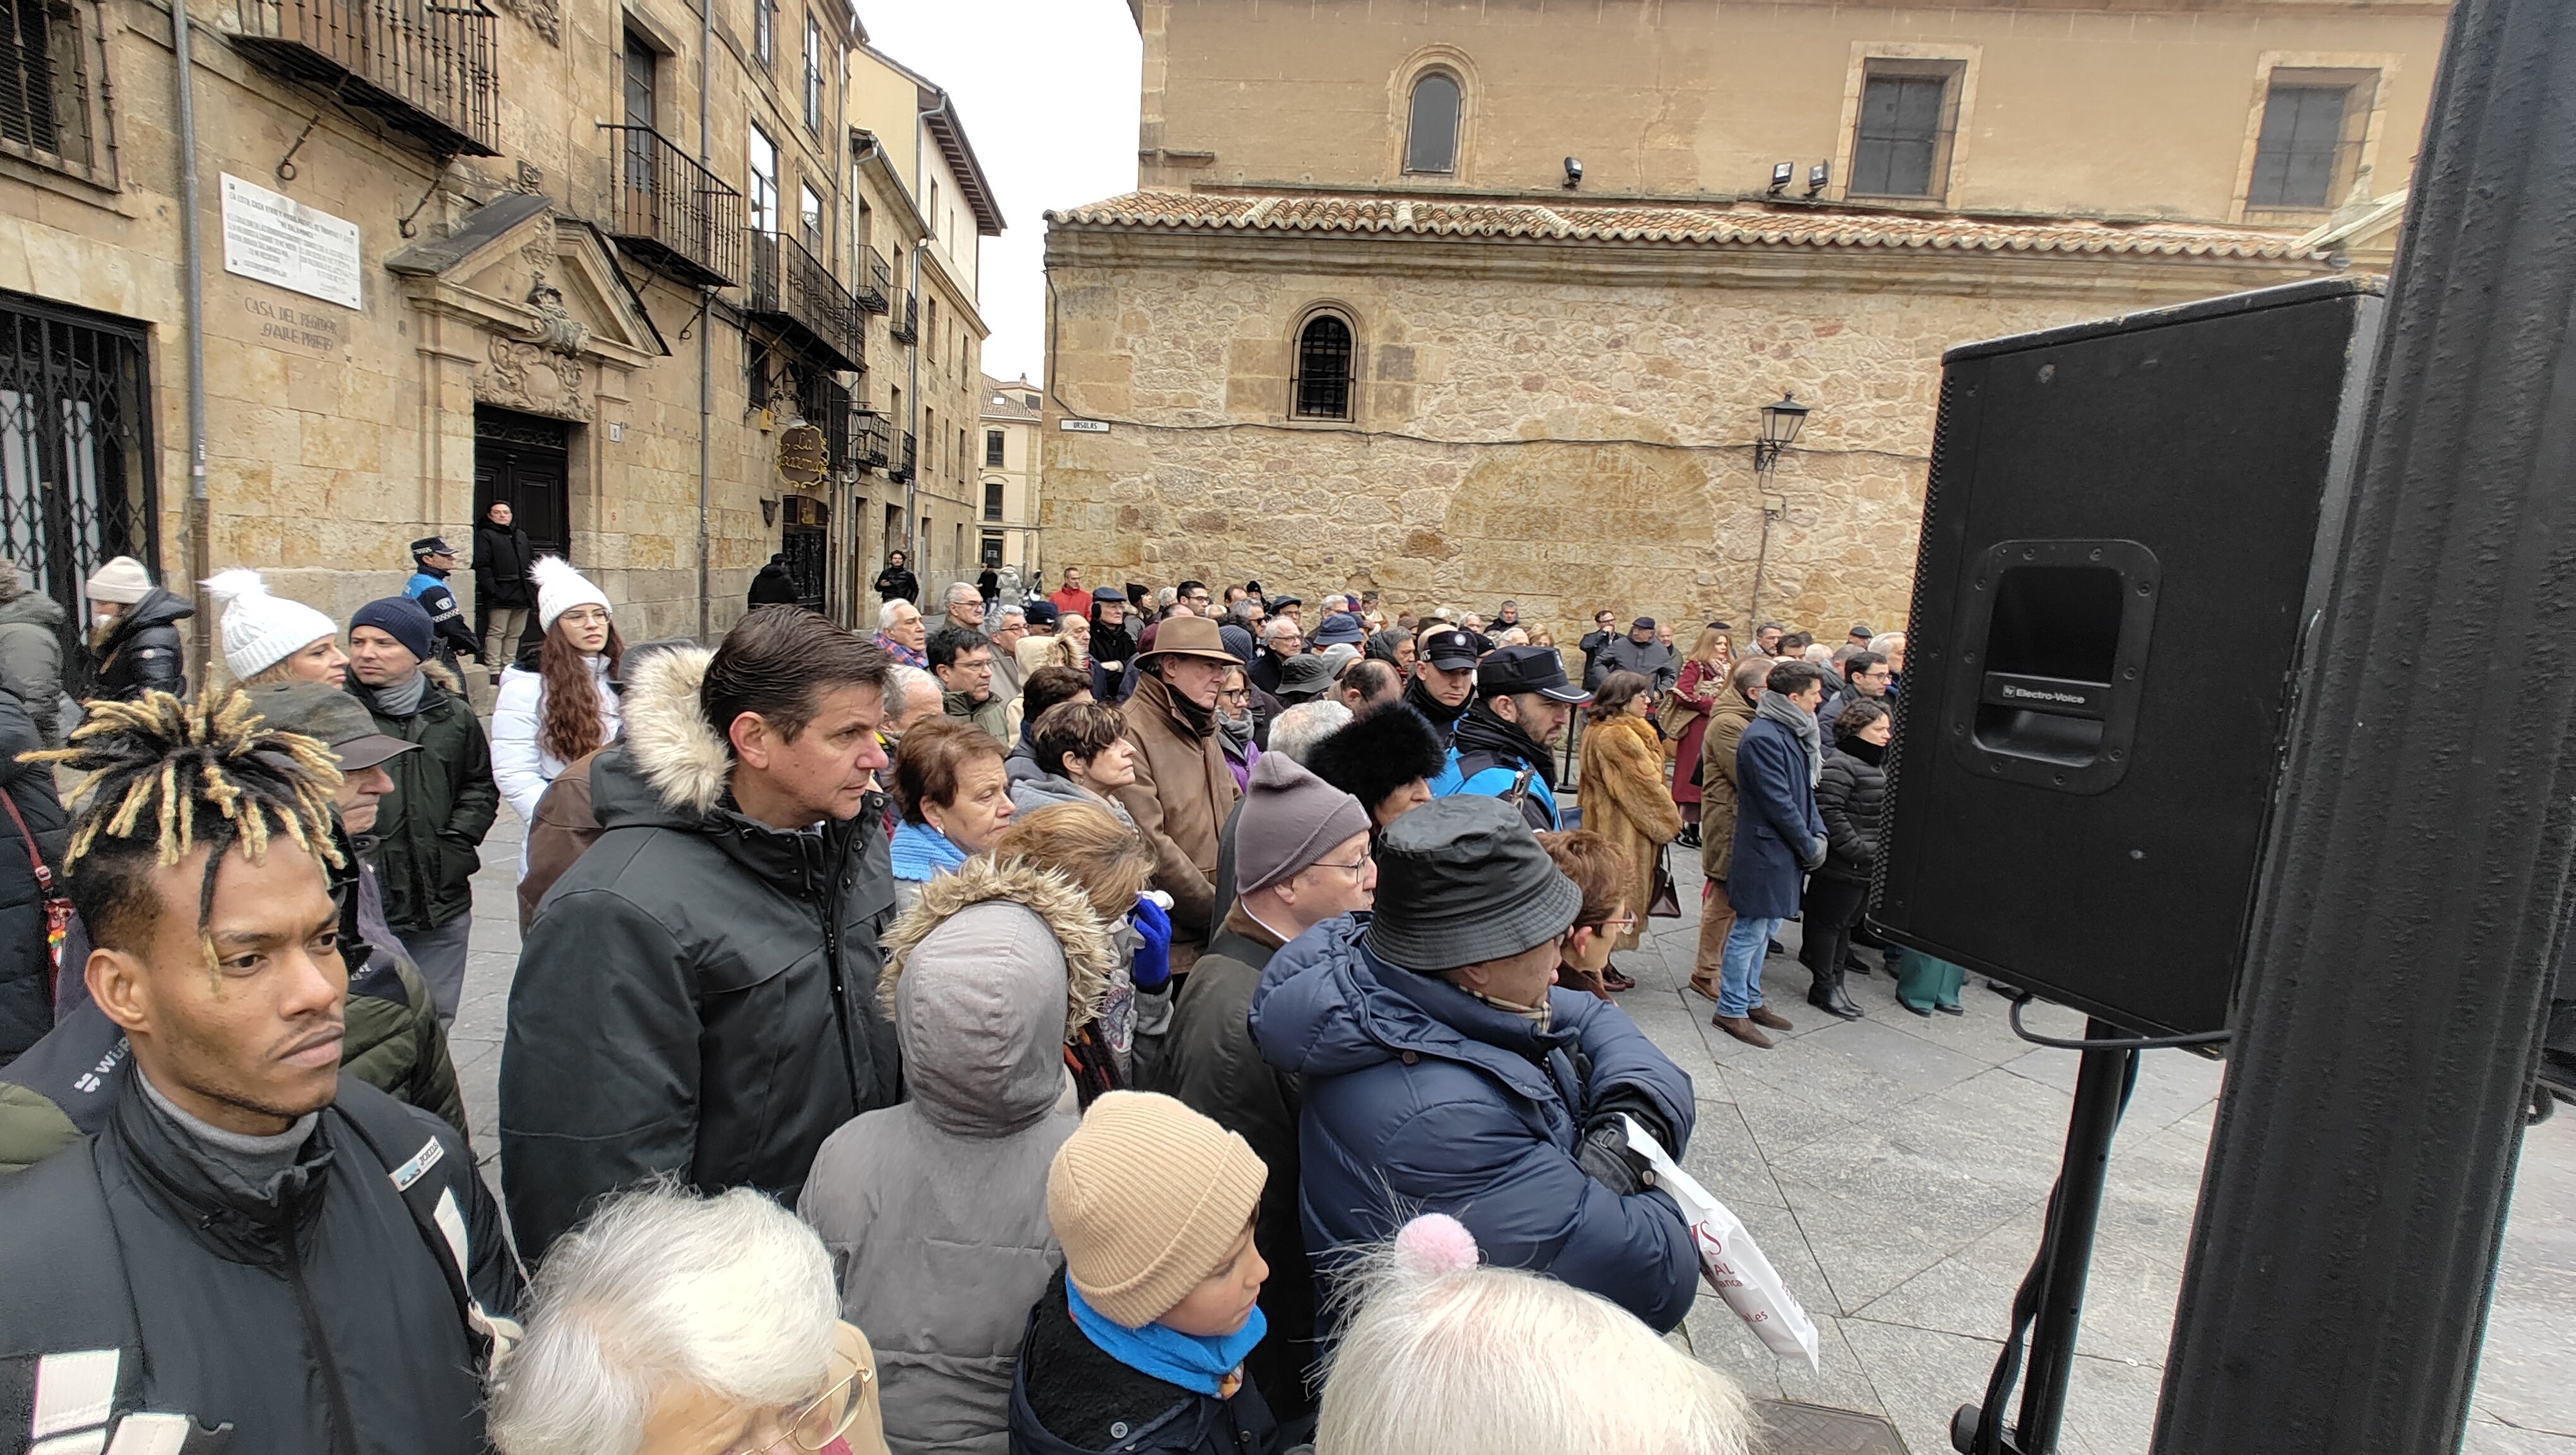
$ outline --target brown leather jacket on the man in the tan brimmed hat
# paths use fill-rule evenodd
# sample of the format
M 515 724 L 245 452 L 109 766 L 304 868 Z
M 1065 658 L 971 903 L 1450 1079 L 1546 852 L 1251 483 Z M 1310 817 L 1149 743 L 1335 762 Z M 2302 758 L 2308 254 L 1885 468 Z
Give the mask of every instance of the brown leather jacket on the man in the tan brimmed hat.
M 1172 896 L 1172 968 L 1198 961 L 1216 912 L 1216 837 L 1234 811 L 1234 770 L 1208 731 L 1195 731 L 1162 677 L 1139 675 L 1126 713 L 1126 739 L 1136 744 L 1136 783 L 1118 803 L 1154 845 L 1154 888 Z

